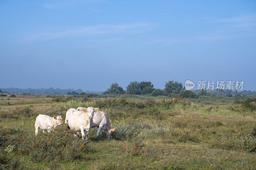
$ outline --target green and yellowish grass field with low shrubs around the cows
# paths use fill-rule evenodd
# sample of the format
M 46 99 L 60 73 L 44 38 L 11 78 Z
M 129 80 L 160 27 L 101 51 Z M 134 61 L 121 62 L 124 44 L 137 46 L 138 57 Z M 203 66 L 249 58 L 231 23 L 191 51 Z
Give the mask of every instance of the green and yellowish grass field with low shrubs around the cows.
M 54 97 L 0 97 L 0 169 L 256 169 L 256 112 L 234 98 Z M 110 140 L 64 125 L 35 136 L 38 114 L 64 121 L 79 106 L 108 114 Z

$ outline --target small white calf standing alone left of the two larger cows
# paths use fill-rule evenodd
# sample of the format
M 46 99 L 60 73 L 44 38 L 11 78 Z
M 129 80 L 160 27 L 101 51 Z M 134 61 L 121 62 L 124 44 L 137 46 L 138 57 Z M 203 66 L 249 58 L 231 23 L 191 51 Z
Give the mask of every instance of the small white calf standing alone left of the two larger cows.
M 36 122 L 35 122 L 35 128 L 36 128 L 36 135 L 38 134 L 39 128 L 43 130 L 47 130 L 47 132 L 51 132 L 52 129 L 55 129 L 57 125 L 62 125 L 62 118 L 61 116 L 47 116 L 44 114 L 39 114 L 36 117 Z

